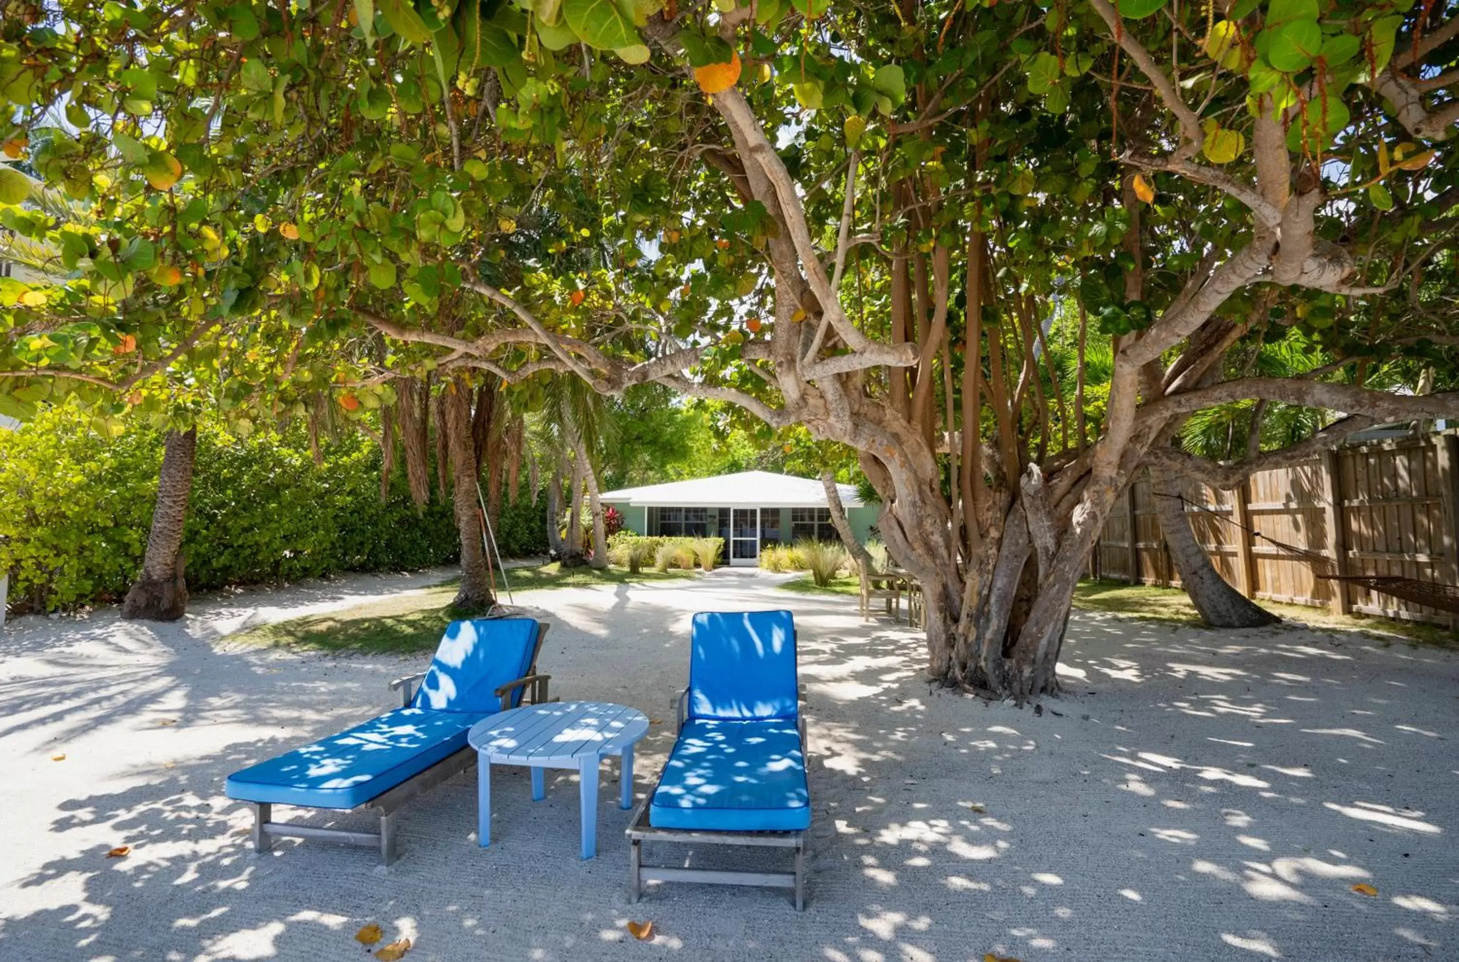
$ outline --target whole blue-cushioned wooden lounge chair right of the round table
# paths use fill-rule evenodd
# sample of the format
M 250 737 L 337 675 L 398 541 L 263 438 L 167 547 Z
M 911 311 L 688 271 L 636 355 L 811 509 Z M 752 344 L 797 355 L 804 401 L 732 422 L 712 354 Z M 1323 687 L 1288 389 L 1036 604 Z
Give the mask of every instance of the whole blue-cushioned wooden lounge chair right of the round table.
M 708 882 L 795 889 L 804 909 L 811 807 L 791 613 L 696 615 L 677 717 L 664 774 L 627 829 L 632 901 L 643 882 Z M 795 870 L 645 866 L 646 841 L 794 848 Z

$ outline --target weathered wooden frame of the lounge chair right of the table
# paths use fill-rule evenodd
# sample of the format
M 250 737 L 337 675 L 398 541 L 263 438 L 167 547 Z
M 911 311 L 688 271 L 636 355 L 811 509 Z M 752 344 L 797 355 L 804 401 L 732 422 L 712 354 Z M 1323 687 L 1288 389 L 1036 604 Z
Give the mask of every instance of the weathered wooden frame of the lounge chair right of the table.
M 674 701 L 674 737 L 684 727 L 689 689 Z M 801 758 L 808 758 L 805 740 L 805 686 L 798 686 L 797 724 L 801 733 Z M 805 911 L 805 829 L 794 832 L 696 832 L 692 829 L 654 828 L 648 823 L 648 809 L 654 801 L 649 791 L 629 822 L 629 901 L 638 902 L 645 882 L 699 882 L 703 885 L 746 885 L 794 889 L 795 911 Z M 732 869 L 689 869 L 686 866 L 643 864 L 643 842 L 677 842 L 684 845 L 756 845 L 791 848 L 795 851 L 794 871 L 743 871 Z

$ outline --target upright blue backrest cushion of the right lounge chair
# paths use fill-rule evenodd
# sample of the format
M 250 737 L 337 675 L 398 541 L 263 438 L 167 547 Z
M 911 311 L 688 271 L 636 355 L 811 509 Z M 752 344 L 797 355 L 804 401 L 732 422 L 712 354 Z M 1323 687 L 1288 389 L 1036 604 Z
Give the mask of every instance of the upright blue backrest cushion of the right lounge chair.
M 798 707 L 795 619 L 789 612 L 694 615 L 692 718 L 795 718 Z

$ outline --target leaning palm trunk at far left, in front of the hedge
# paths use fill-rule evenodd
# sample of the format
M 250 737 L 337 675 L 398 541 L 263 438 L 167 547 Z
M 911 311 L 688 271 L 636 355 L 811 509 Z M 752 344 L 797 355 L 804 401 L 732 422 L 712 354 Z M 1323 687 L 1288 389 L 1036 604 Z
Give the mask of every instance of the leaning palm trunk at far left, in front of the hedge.
M 187 612 L 187 581 L 182 577 L 182 531 L 193 493 L 193 464 L 197 460 L 197 428 L 169 431 L 158 474 L 158 505 L 142 575 L 121 606 L 123 617 L 174 622 Z

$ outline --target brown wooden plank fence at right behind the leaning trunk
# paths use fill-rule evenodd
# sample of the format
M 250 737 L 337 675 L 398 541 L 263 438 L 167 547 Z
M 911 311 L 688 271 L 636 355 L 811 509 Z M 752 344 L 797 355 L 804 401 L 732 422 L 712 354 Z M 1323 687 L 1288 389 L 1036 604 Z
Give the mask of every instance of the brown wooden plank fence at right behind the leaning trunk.
M 1224 520 L 1320 552 L 1334 559 L 1338 574 L 1452 585 L 1459 584 L 1456 489 L 1459 435 L 1439 432 L 1347 445 L 1294 467 L 1261 472 L 1233 490 L 1192 482 L 1180 493 L 1191 502 L 1186 517 L 1196 542 L 1221 577 L 1249 599 L 1459 628 L 1459 619 L 1446 612 L 1317 578 L 1306 559 Z M 1131 584 L 1180 584 L 1154 498 L 1145 476 L 1121 495 L 1094 546 L 1091 574 Z

